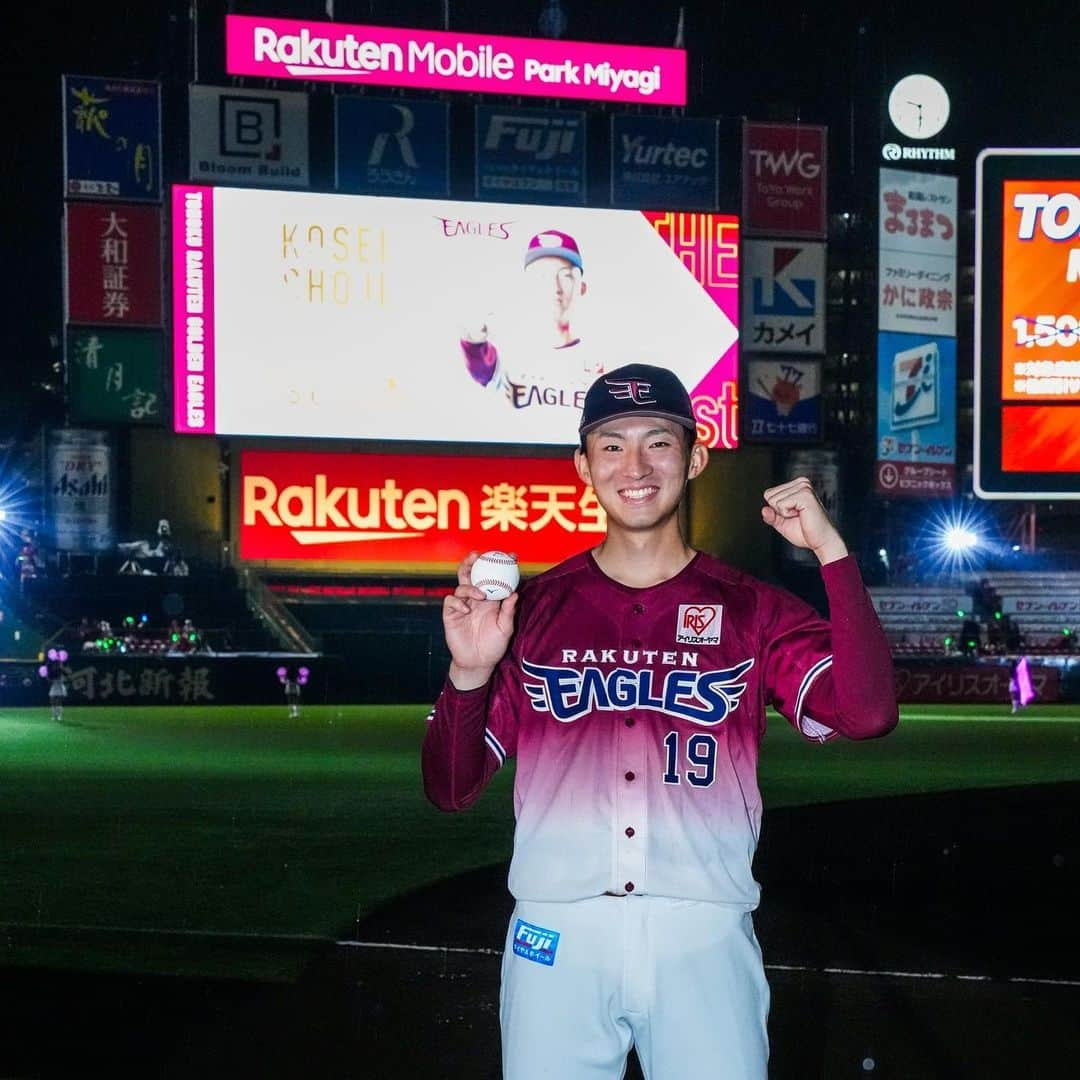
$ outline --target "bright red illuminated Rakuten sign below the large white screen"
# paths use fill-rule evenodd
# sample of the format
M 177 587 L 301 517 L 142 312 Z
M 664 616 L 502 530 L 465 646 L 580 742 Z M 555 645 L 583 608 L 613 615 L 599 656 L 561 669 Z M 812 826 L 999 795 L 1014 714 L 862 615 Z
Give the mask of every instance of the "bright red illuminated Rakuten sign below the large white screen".
M 569 456 L 243 450 L 239 484 L 244 561 L 415 573 L 497 549 L 536 571 L 607 530 Z

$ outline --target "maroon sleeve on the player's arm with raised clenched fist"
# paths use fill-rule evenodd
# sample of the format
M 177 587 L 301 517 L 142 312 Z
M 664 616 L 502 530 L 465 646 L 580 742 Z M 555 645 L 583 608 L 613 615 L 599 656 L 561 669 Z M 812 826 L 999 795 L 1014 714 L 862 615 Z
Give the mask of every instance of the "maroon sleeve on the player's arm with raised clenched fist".
M 896 726 L 889 643 L 854 556 L 822 567 L 829 618 L 777 591 L 762 611 L 766 699 L 808 739 L 874 739 Z

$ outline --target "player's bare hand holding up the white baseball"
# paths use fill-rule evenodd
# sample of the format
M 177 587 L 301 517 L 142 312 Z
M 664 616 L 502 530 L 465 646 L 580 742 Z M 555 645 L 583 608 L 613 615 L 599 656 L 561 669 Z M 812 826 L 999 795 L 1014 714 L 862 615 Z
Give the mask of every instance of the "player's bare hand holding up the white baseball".
M 483 686 L 505 656 L 514 633 L 517 593 L 489 600 L 470 581 L 478 552 L 458 567 L 458 588 L 443 600 L 443 631 L 450 651 L 450 681 L 459 690 Z

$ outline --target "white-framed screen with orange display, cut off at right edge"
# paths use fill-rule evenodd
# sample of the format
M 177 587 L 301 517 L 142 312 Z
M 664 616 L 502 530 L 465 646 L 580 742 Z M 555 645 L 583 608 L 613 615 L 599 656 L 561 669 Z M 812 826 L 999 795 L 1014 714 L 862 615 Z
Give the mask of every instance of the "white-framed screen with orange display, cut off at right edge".
M 975 492 L 1080 499 L 1080 151 L 978 157 Z

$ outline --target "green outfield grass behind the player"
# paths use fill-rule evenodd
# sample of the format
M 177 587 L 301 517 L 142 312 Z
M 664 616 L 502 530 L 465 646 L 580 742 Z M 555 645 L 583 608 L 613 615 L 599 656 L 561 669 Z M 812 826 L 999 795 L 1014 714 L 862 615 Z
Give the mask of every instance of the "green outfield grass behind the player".
M 427 711 L 0 711 L 0 924 L 339 939 L 394 896 L 504 861 L 511 769 L 467 813 L 433 809 Z M 827 746 L 773 717 L 760 777 L 784 807 L 1077 781 L 1078 751 L 1080 706 L 905 708 L 888 739 Z

